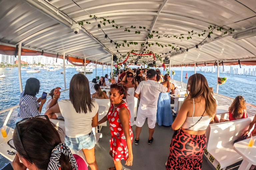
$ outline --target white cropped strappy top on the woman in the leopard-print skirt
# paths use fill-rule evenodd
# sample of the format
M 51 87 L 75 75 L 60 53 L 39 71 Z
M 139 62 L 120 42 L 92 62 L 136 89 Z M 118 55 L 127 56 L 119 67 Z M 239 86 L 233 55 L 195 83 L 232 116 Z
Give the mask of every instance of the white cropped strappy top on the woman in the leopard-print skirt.
M 193 99 L 193 115 L 192 115 L 192 117 L 187 117 L 181 127 L 185 128 L 185 129 L 189 128 L 189 130 L 194 130 L 194 131 L 205 130 L 208 127 L 208 125 L 210 124 L 212 117 L 203 116 L 202 119 L 198 122 L 198 120 L 201 118 L 201 116 L 193 117 L 194 112 L 195 112 L 195 103 L 194 103 L 194 99 Z M 193 126 L 193 125 L 195 125 L 195 126 Z M 193 126 L 193 127 L 190 128 L 191 126 Z

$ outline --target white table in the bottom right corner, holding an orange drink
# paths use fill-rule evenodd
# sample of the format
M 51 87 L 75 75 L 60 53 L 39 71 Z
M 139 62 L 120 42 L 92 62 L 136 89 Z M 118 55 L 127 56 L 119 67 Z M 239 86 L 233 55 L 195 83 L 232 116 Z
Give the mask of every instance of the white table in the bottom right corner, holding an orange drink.
M 250 138 L 236 142 L 233 146 L 234 150 L 244 159 L 238 170 L 249 170 L 252 165 L 256 165 L 256 143 L 250 147 L 248 146 L 249 141 Z

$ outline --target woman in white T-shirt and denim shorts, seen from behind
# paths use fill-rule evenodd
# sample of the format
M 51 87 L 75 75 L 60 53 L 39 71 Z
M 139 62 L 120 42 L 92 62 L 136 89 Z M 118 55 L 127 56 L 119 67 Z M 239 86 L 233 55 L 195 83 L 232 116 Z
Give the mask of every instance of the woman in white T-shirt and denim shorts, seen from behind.
M 58 101 L 59 89 L 49 110 L 61 112 L 65 119 L 65 143 L 69 148 L 83 150 L 91 170 L 98 170 L 94 148 L 96 144 L 92 128 L 98 124 L 98 103 L 91 99 L 89 81 L 84 74 L 75 74 L 69 85 L 69 100 Z

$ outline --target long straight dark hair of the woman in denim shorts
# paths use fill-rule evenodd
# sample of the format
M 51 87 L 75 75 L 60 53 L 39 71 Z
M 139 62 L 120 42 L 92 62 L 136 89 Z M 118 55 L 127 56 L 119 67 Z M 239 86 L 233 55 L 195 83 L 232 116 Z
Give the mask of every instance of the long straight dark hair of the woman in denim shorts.
M 84 74 L 75 74 L 69 84 L 69 100 L 77 113 L 92 112 L 93 100 L 90 95 L 89 81 Z

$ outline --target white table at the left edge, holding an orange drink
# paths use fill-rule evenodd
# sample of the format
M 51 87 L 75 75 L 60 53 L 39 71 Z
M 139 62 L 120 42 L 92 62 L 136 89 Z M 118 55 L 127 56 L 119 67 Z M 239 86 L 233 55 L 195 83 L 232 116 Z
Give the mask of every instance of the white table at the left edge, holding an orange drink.
M 7 150 L 10 152 L 16 152 L 16 150 L 12 149 L 7 142 L 12 139 L 12 130 L 13 128 L 9 128 L 8 126 L 5 126 L 7 137 L 3 138 L 2 134 L 0 134 L 0 154 L 3 155 L 6 159 L 8 159 L 10 162 L 13 161 L 15 155 L 9 155 Z

